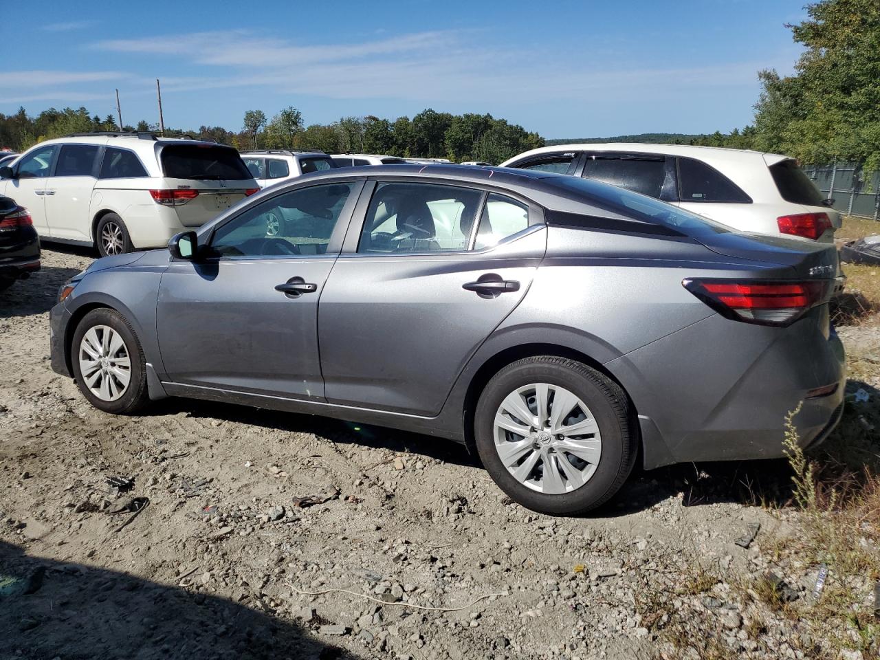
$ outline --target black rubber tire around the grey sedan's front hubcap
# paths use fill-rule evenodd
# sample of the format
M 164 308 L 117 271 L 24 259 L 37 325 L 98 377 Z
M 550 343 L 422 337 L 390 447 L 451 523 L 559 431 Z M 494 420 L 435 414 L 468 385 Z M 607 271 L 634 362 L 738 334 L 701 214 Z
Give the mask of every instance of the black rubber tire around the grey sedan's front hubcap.
M 116 400 L 102 400 L 85 384 L 79 364 L 79 356 L 83 337 L 95 326 L 108 326 L 120 335 L 124 342 L 130 362 L 128 389 Z M 89 400 L 92 406 L 112 414 L 134 414 L 150 400 L 147 393 L 146 360 L 143 357 L 141 342 L 137 341 L 135 331 L 128 321 L 115 310 L 102 307 L 88 312 L 77 325 L 70 344 L 70 363 L 73 366 L 73 377 L 77 380 L 79 391 Z

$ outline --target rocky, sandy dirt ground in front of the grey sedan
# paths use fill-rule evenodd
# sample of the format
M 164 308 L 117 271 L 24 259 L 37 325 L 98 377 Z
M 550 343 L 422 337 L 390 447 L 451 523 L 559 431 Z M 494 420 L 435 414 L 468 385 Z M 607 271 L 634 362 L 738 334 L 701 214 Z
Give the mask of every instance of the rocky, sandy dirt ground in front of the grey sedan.
M 671 657 L 655 598 L 735 656 L 805 656 L 736 589 L 796 528 L 783 462 L 638 473 L 552 518 L 429 437 L 189 400 L 102 414 L 48 357 L 91 259 L 48 246 L 0 294 L 0 658 Z M 302 593 L 325 590 L 352 593 Z

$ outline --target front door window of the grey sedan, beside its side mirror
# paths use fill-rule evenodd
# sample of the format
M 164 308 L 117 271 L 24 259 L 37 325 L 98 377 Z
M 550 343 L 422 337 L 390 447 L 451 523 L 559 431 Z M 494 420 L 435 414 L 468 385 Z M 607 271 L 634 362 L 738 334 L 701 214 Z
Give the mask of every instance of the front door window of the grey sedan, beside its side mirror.
M 312 186 L 279 194 L 219 227 L 215 256 L 324 254 L 352 183 Z

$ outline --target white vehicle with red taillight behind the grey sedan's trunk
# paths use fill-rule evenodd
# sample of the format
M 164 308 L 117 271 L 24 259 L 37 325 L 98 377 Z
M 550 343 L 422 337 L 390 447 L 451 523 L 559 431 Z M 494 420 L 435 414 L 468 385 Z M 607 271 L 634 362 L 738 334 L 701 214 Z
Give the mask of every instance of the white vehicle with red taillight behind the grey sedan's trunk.
M 840 213 L 788 156 L 680 144 L 558 144 L 503 167 L 611 183 L 738 231 L 832 243 Z

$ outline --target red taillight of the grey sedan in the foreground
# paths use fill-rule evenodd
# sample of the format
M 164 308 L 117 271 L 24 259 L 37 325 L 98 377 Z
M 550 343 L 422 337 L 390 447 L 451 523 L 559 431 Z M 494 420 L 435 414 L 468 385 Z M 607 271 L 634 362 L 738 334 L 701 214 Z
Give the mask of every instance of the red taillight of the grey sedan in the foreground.
M 762 326 L 788 326 L 831 294 L 833 280 L 686 279 L 686 290 L 728 319 Z

